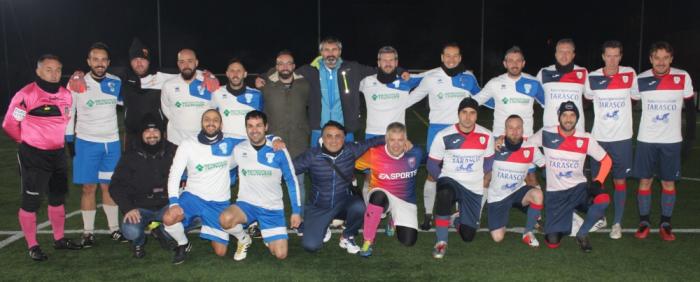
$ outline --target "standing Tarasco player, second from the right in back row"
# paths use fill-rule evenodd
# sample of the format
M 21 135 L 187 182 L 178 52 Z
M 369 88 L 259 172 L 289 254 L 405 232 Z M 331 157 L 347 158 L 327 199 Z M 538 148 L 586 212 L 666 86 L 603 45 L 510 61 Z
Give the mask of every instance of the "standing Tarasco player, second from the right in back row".
M 603 43 L 605 66 L 588 74 L 584 97 L 593 100 L 595 119 L 591 136 L 598 141 L 613 161 L 615 217 L 610 238 L 622 237 L 622 215 L 627 194 L 627 177 L 632 170 L 632 105 L 631 92 L 637 88 L 637 74 L 630 67 L 620 66 L 622 43 Z M 591 160 L 591 175 L 598 174 L 600 163 Z

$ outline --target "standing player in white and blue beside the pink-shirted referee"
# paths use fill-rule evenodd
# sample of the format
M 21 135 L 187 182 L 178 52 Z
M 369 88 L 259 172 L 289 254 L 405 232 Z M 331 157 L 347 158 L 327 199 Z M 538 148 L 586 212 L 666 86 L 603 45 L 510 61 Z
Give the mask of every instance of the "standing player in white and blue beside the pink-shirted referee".
M 85 76 L 86 91 L 72 91 L 71 120 L 66 127 L 66 141 L 75 142 L 73 183 L 82 184 L 80 210 L 83 216 L 84 247 L 95 243 L 95 195 L 97 184 L 102 190 L 102 208 L 112 240 L 123 241 L 119 231 L 119 208 L 109 195 L 109 183 L 121 156 L 117 104 L 121 104 L 121 80 L 110 73 L 107 45 L 98 42 L 90 47 Z

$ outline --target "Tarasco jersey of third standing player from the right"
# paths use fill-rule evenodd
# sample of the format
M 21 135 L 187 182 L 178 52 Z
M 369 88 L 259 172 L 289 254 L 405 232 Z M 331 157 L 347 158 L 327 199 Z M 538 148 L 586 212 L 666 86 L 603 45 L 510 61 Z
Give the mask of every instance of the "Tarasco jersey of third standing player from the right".
M 586 90 L 588 71 L 585 68 L 574 65 L 574 70 L 568 73 L 557 71 L 554 65 L 542 68 L 537 73 L 537 80 L 544 88 L 544 114 L 542 115 L 543 127 L 559 125 L 557 111 L 561 103 L 572 101 L 579 112 L 576 130 L 584 132 L 586 119 L 583 114 L 583 93 Z

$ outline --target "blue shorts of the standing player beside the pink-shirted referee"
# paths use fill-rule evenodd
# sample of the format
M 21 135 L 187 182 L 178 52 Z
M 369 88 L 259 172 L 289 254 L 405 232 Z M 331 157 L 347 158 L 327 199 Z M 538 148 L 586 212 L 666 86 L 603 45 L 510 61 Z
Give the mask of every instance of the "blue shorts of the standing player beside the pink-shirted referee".
M 121 155 L 119 141 L 99 143 L 75 138 L 73 183 L 109 184 Z

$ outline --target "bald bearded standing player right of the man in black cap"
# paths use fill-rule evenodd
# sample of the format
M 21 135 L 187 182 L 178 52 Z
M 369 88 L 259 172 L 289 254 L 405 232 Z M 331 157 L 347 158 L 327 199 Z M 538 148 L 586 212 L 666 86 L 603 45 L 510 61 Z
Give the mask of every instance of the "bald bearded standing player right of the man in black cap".
M 203 75 L 196 70 L 199 65 L 192 49 L 177 53 L 180 75 L 163 84 L 160 97 L 161 110 L 169 120 L 168 141 L 180 145 L 183 140 L 197 136 L 200 125 L 197 120 L 212 108 L 212 92 L 205 87 Z

